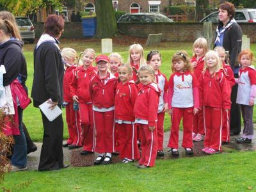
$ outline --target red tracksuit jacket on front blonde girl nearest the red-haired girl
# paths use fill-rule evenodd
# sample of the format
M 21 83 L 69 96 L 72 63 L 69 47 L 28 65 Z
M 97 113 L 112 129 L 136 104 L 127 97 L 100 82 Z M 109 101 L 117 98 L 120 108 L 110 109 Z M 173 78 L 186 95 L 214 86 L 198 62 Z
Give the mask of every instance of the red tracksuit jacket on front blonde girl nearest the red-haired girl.
M 230 109 L 230 86 L 225 77 L 225 72 L 220 69 L 214 74 L 205 70 L 199 78 L 200 107 L 209 106 L 212 108 Z

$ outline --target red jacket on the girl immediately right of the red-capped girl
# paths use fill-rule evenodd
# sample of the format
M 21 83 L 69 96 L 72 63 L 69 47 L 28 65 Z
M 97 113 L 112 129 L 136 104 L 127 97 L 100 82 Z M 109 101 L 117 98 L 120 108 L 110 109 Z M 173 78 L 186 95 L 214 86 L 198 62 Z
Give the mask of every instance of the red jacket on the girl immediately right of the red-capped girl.
M 117 84 L 115 96 L 115 119 L 134 122 L 133 106 L 138 96 L 138 88 L 133 80 Z

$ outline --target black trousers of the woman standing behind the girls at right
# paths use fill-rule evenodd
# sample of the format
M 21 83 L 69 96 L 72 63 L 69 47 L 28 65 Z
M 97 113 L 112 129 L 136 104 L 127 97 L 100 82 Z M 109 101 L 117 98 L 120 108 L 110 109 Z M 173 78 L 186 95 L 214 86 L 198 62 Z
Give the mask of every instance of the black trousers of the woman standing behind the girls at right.
M 238 74 L 234 74 L 238 78 Z M 239 134 L 241 132 L 241 108 L 236 104 L 238 84 L 235 84 L 231 92 L 231 109 L 230 109 L 230 132 Z

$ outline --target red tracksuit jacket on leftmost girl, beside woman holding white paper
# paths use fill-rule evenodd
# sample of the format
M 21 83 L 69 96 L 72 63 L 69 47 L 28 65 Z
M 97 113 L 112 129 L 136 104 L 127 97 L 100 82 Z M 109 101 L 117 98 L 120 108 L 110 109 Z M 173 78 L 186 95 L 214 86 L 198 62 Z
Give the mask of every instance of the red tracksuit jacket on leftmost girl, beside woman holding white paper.
M 76 65 L 72 65 L 66 68 L 63 78 L 63 98 L 65 102 L 73 102 L 70 92 L 70 83 L 72 83 L 73 76 L 76 72 Z

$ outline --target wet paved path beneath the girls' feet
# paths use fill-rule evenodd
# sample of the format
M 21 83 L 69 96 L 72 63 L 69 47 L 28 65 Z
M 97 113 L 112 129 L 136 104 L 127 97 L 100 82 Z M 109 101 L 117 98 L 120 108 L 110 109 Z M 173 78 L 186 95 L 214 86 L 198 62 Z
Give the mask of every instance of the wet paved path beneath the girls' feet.
M 255 133 L 255 138 L 256 138 L 256 124 L 254 125 L 254 133 Z M 180 155 L 179 157 L 172 157 L 170 153 L 168 153 L 168 150 L 170 148 L 166 147 L 168 144 L 168 140 L 170 137 L 170 132 L 164 132 L 164 157 L 157 157 L 157 159 L 173 159 L 173 158 L 184 158 L 187 157 L 185 156 L 184 148 L 180 147 L 179 152 Z M 179 141 L 182 140 L 182 132 L 179 134 Z M 230 150 L 256 150 L 256 139 L 253 140 L 252 143 L 248 144 L 237 144 L 234 140 L 238 138 L 239 136 L 231 136 L 230 138 L 230 143 L 228 145 L 223 145 L 223 152 L 230 152 Z M 66 141 L 63 141 L 65 143 Z M 180 142 L 181 143 L 181 142 Z M 181 145 L 179 143 L 179 145 Z M 204 142 L 194 142 L 194 156 L 205 156 L 203 152 L 201 152 L 201 149 L 203 148 Z M 42 147 L 42 143 L 36 143 L 36 146 L 38 147 L 38 150 L 36 152 L 33 152 L 28 155 L 28 168 L 29 170 L 37 170 L 38 164 L 39 164 L 39 157 L 40 157 L 40 151 Z M 64 162 L 67 164 L 70 164 L 71 166 L 92 166 L 93 161 L 97 157 L 97 154 L 88 154 L 86 156 L 81 156 L 80 152 L 83 148 L 76 148 L 76 149 L 68 149 L 68 148 L 63 148 L 64 152 Z M 113 156 L 113 163 L 121 163 L 122 160 L 118 158 L 118 156 Z

